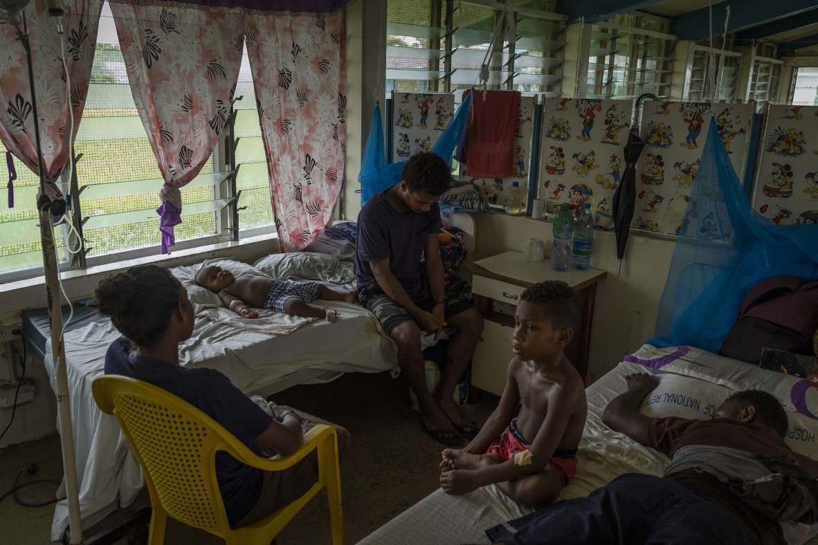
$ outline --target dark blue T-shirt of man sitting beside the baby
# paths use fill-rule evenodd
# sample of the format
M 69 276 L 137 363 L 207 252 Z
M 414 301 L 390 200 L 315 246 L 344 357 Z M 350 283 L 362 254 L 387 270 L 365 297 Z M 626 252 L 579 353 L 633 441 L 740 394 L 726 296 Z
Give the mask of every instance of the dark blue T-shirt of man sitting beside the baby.
M 357 288 L 377 285 L 370 263 L 389 258 L 389 270 L 412 301 L 422 301 L 429 284 L 421 260 L 429 235 L 443 226 L 440 208 L 433 203 L 429 212 L 398 212 L 386 199 L 387 191 L 375 194 L 358 213 Z

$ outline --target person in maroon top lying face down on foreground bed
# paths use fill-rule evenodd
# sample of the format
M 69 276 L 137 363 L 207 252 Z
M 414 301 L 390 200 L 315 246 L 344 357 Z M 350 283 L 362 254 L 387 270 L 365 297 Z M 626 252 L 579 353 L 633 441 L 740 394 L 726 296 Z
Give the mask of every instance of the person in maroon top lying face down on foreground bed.
M 628 473 L 587 498 L 555 503 L 486 531 L 495 543 L 784 544 L 780 521 L 818 517 L 818 462 L 782 437 L 787 415 L 771 394 L 731 395 L 710 420 L 639 412 L 658 381 L 628 375 L 605 408 L 616 431 L 672 458 L 663 477 Z

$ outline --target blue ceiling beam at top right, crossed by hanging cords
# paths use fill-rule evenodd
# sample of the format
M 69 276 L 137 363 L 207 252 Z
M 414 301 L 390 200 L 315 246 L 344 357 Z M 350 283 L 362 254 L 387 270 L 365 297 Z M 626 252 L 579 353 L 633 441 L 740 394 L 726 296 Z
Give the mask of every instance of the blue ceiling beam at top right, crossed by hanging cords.
M 724 32 L 724 21 L 727 18 L 727 7 L 730 7 L 730 20 L 727 32 L 738 32 L 758 25 L 766 25 L 784 17 L 798 16 L 804 11 L 816 7 L 815 0 L 726 0 L 712 7 L 713 34 L 721 36 Z M 682 40 L 701 40 L 709 37 L 710 10 L 703 7 L 674 17 L 670 24 L 671 34 Z

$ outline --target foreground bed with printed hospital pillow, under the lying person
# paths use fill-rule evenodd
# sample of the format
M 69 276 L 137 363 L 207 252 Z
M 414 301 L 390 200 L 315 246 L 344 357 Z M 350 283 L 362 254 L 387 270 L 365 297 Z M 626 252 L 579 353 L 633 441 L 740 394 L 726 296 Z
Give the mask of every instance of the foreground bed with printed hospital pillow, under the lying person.
M 662 475 L 669 458 L 611 430 L 601 419 L 609 401 L 627 390 L 625 376 L 631 373 L 658 376 L 659 386 L 640 409 L 649 416 L 710 418 L 713 410 L 735 391 L 769 391 L 787 412 L 786 442 L 796 452 L 818 459 L 818 388 L 809 382 L 690 346 L 660 349 L 645 345 L 623 360 L 587 389 L 588 418 L 578 452 L 578 471 L 560 499 L 587 496 L 627 472 Z M 495 485 L 462 496 L 450 496 L 437 489 L 359 545 L 491 543 L 485 529 L 528 512 Z M 815 526 L 793 524 L 785 528 L 785 535 L 789 543 L 804 543 L 815 531 Z M 808 543 L 814 545 L 818 538 Z

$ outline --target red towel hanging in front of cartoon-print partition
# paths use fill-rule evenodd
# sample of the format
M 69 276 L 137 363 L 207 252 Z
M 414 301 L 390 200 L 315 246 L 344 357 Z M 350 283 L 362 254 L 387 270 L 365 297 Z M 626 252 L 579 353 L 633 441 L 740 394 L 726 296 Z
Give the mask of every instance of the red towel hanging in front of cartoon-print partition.
M 470 91 L 463 92 L 464 99 Z M 469 126 L 456 158 L 465 163 L 467 176 L 511 176 L 519 97 L 519 91 L 476 91 Z

